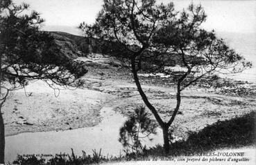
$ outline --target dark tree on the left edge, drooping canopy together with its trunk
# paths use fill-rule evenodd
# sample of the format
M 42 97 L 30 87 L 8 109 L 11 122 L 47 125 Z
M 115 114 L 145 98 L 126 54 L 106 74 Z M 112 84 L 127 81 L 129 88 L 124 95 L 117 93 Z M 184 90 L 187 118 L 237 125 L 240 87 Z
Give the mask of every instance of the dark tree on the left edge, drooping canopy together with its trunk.
M 28 81 L 42 80 L 51 88 L 83 84 L 79 78 L 87 70 L 76 61 L 61 56 L 60 47 L 49 32 L 39 30 L 40 14 L 26 14 L 28 4 L 0 1 L 0 164 L 4 164 L 5 133 L 1 107 L 12 90 Z M 57 84 L 57 85 L 56 85 Z

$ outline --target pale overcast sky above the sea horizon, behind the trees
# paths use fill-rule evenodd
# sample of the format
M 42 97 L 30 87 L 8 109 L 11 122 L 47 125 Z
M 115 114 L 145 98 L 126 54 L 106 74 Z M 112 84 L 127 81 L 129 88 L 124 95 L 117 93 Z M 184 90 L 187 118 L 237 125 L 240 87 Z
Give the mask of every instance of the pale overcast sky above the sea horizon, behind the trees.
M 79 23 L 93 23 L 101 9 L 101 0 L 14 0 L 26 2 L 41 13 L 46 30 L 74 30 Z M 157 0 L 168 3 L 170 0 Z M 176 10 L 187 8 L 191 1 L 173 1 Z M 207 14 L 204 28 L 223 32 L 256 32 L 256 1 L 199 1 Z M 69 30 L 68 30 L 69 29 Z

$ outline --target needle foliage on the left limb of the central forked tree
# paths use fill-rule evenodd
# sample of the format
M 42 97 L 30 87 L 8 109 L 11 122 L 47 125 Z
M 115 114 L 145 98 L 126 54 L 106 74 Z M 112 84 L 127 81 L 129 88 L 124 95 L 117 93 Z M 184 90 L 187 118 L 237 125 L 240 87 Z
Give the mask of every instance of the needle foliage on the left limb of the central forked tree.
M 155 1 L 104 1 L 96 23 L 80 24 L 80 29 L 108 43 L 103 44 L 104 53 L 129 58 L 140 48 L 151 45 L 157 26 L 173 17 L 173 4 L 156 6 Z M 122 52 L 122 53 L 120 53 Z

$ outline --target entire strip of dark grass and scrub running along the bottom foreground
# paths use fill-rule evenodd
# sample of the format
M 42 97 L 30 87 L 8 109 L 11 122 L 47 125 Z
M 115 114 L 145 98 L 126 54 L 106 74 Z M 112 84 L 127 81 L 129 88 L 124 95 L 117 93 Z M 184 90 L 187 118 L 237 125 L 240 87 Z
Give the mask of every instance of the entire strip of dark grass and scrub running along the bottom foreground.
M 148 150 L 138 153 L 126 153 L 117 157 L 101 155 L 101 151 L 93 151 L 93 155 L 87 155 L 83 151 L 83 156 L 77 157 L 73 150 L 71 155 L 62 157 L 58 155 L 49 160 L 38 157 L 22 157 L 19 155 L 13 164 L 22 165 L 60 165 L 60 164 L 97 164 L 99 162 L 117 162 L 133 159 L 144 159 L 148 157 L 173 157 L 187 155 L 187 153 L 200 153 L 214 151 L 221 148 L 239 148 L 242 146 L 255 146 L 255 121 L 256 113 L 251 112 L 242 117 L 235 117 L 230 120 L 219 121 L 207 126 L 197 133 L 189 133 L 185 141 L 171 144 L 171 151 L 164 155 L 162 146 L 157 145 Z

